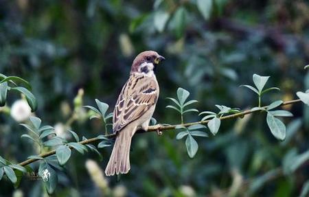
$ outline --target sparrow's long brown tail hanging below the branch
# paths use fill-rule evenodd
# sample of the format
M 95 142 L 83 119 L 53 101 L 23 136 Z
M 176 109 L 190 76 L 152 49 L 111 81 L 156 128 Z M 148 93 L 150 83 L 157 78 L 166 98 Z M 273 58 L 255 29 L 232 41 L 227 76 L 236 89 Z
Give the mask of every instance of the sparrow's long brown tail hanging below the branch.
M 126 174 L 130 170 L 130 146 L 135 129 L 126 126 L 116 137 L 111 157 L 105 169 L 106 176 Z

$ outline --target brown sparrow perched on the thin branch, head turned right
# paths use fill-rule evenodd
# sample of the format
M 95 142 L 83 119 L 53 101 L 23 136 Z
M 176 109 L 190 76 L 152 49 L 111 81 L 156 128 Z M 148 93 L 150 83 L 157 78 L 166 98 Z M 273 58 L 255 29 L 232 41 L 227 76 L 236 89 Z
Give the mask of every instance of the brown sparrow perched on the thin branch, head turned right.
M 156 51 L 143 51 L 136 56 L 130 77 L 119 94 L 113 111 L 113 133 L 116 135 L 106 176 L 127 174 L 130 170 L 130 145 L 137 130 L 148 130 L 159 98 L 155 70 L 165 58 Z

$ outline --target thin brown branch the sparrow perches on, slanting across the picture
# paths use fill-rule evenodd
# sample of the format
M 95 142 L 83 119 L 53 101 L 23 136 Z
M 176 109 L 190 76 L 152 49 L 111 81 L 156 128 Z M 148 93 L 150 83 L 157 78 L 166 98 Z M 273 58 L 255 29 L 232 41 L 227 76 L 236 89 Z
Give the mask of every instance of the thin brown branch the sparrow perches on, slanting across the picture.
M 301 100 L 290 100 L 290 101 L 287 101 L 287 102 L 283 102 L 281 104 L 281 106 L 289 105 L 289 104 L 295 104 L 297 102 L 301 102 Z M 266 109 L 266 107 L 267 106 L 263 106 L 262 108 Z M 250 113 L 255 113 L 255 112 L 258 112 L 258 111 L 262 111 L 262 109 L 257 110 L 257 111 L 251 111 L 251 110 L 242 111 L 240 113 L 236 113 L 236 114 L 233 114 L 233 115 L 226 115 L 226 116 L 220 117 L 220 119 L 224 120 L 224 119 L 232 119 L 232 118 L 236 118 L 236 117 L 243 117 L 244 115 L 248 115 Z M 188 126 L 192 126 L 194 124 L 207 124 L 209 121 L 210 120 L 190 122 L 190 123 L 182 124 L 182 126 L 188 127 Z M 148 130 L 146 130 L 146 131 L 138 130 L 137 132 L 152 132 L 152 131 L 157 131 L 157 130 L 160 130 L 160 131 L 172 130 L 172 129 L 176 128 L 176 126 L 180 126 L 180 125 L 181 124 L 170 125 L 170 126 L 163 126 L 163 125 L 149 126 Z M 107 138 L 113 138 L 115 136 L 116 136 L 115 134 L 105 135 L 105 137 L 107 137 Z M 80 141 L 79 143 L 87 144 L 87 143 L 93 143 L 95 141 L 100 141 L 100 140 L 102 140 L 102 139 L 98 139 L 97 137 L 94 137 L 94 138 L 91 138 L 91 139 Z M 70 147 L 70 148 L 72 149 L 72 147 Z M 45 157 L 49 157 L 53 154 L 56 154 L 56 150 L 51 150 L 49 152 L 39 154 L 38 156 L 45 158 Z M 30 163 L 33 163 L 34 161 L 38 161 L 38 160 L 39 159 L 27 159 L 26 161 L 19 163 L 19 165 L 22 165 L 22 166 L 29 165 Z

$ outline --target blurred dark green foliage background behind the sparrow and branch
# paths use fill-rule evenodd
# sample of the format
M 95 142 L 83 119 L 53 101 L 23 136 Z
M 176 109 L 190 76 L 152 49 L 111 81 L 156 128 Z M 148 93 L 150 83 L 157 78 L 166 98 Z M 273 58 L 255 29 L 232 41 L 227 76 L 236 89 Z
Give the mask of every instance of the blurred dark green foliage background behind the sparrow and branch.
M 239 88 L 252 84 L 253 73 L 271 76 L 268 85 L 282 90 L 264 95 L 262 105 L 292 100 L 297 91 L 309 89 L 304 71 L 308 13 L 305 0 L 0 0 L 0 73 L 30 82 L 36 115 L 45 124 L 90 138 L 104 128 L 98 119 L 87 120 L 89 112 L 81 106 L 95 106 L 95 98 L 113 106 L 133 58 L 153 49 L 167 59 L 157 69 L 160 98 L 154 117 L 177 124 L 177 112 L 165 108 L 170 104 L 165 97 L 179 86 L 198 100 L 198 111 L 214 111 L 215 104 L 257 106 L 256 95 Z M 16 163 L 38 151 L 20 138 L 25 130 L 10 117 L 10 106 L 19 98 L 8 97 L 0 110 L 0 155 Z M 265 115 L 249 115 L 222 122 L 216 137 L 196 138 L 194 159 L 176 141 L 176 132 L 136 135 L 130 173 L 108 181 L 103 177 L 101 185 L 87 169 L 100 174 L 111 149 L 101 150 L 101 161 L 95 153 L 72 152 L 65 171 L 58 172 L 55 195 L 298 196 L 302 188 L 308 191 L 308 162 L 297 169 L 290 169 L 289 162 L 308 155 L 309 108 L 284 109 L 295 116 L 284 119 L 286 141 L 265 132 Z M 187 113 L 185 122 L 199 119 Z M 32 168 L 37 172 L 38 163 Z M 9 181 L 2 180 L 0 188 L 0 196 L 14 192 Z M 19 189 L 15 194 L 45 192 L 41 181 L 27 177 Z

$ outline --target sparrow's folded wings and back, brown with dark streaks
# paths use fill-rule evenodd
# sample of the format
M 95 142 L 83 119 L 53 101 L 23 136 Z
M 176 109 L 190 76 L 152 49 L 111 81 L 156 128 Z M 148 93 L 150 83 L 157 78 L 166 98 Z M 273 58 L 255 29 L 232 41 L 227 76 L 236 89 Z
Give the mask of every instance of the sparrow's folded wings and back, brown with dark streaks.
M 118 97 L 113 114 L 113 132 L 144 115 L 157 103 L 159 86 L 156 78 L 131 75 Z

